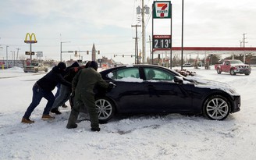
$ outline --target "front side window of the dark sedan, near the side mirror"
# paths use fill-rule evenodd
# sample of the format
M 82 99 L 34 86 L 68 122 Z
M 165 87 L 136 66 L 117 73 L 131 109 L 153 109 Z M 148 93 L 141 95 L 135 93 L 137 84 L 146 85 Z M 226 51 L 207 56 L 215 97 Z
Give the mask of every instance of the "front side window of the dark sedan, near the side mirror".
M 173 80 L 174 75 L 162 69 L 144 68 L 146 80 Z

